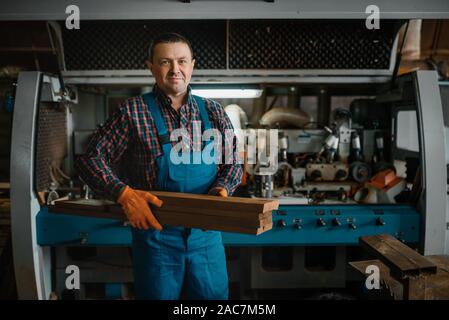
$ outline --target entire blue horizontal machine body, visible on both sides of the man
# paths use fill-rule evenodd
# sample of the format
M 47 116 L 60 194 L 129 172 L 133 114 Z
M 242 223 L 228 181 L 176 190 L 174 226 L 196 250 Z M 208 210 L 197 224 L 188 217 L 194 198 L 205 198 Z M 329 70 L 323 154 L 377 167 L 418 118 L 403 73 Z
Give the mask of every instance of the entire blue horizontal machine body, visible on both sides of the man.
M 359 237 L 390 234 L 419 242 L 420 213 L 410 205 L 281 205 L 273 228 L 261 235 L 222 232 L 228 246 L 357 245 Z M 41 246 L 130 246 L 131 230 L 123 221 L 50 213 L 37 215 Z

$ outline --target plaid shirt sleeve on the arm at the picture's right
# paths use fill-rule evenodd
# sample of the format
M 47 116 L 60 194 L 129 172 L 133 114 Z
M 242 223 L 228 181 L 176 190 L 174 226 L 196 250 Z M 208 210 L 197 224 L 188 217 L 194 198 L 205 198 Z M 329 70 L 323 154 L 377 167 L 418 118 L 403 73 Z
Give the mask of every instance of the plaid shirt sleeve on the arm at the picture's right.
M 225 188 L 232 195 L 242 181 L 243 168 L 238 161 L 237 138 L 231 120 L 223 107 L 216 101 L 205 99 L 211 120 L 222 135 L 222 161 L 218 165 L 218 176 L 213 187 Z M 231 134 L 230 134 L 231 133 Z M 231 161 L 226 155 L 232 155 Z

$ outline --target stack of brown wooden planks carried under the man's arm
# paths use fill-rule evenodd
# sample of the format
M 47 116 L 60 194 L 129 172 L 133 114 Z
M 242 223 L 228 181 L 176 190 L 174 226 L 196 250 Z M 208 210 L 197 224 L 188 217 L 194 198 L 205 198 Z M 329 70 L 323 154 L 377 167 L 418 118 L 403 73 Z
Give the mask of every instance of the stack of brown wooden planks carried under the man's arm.
M 210 195 L 152 191 L 162 200 L 161 208 L 152 207 L 162 225 L 183 226 L 259 235 L 273 226 L 276 200 L 222 198 Z M 124 219 L 122 208 L 106 200 L 79 199 L 56 201 L 50 212 Z

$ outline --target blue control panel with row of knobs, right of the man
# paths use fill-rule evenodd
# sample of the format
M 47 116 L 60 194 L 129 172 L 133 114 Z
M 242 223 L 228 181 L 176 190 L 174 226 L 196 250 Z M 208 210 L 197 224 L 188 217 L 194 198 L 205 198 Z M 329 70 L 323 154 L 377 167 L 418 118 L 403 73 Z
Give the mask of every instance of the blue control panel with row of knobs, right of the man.
M 386 233 L 419 241 L 420 214 L 410 205 L 281 205 L 273 229 L 259 236 L 223 232 L 227 245 L 357 245 L 359 237 Z

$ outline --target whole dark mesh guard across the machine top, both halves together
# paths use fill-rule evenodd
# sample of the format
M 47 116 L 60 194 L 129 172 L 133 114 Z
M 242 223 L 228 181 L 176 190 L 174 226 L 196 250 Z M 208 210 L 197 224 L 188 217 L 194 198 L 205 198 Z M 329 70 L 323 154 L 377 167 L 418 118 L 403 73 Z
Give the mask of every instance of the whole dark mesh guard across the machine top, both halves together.
M 86 21 L 80 30 L 62 30 L 69 71 L 144 70 L 152 39 L 168 31 L 190 39 L 197 69 L 389 70 L 400 25 L 385 20 L 368 30 L 364 20 L 152 20 Z

